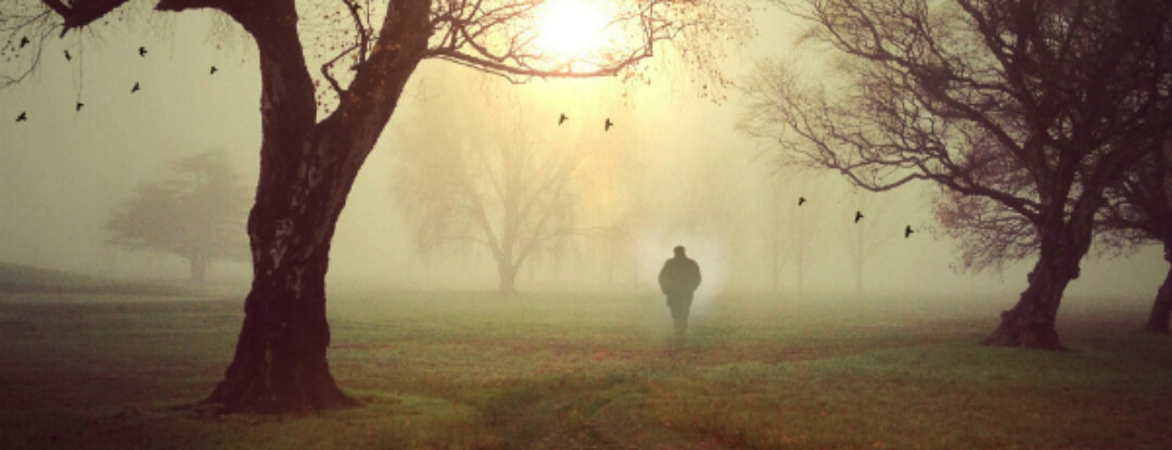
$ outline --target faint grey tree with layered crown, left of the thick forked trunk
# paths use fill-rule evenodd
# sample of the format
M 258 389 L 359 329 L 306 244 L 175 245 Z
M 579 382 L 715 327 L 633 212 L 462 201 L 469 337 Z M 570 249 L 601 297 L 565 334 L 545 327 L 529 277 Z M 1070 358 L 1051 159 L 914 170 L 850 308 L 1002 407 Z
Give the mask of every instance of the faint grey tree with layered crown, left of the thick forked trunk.
M 193 281 L 204 281 L 212 262 L 247 260 L 243 231 L 251 191 L 229 165 L 226 154 L 183 158 L 173 172 L 170 179 L 139 184 L 110 212 L 109 243 L 186 259 Z

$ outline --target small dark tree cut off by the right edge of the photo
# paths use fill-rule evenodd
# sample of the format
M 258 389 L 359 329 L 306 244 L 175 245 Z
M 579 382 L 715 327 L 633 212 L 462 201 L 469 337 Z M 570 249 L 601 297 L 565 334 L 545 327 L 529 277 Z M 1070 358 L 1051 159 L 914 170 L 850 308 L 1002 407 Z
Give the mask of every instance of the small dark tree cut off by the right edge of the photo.
M 1106 191 L 1106 206 L 1101 225 L 1104 246 L 1130 250 L 1140 244 L 1158 243 L 1164 260 L 1172 262 L 1172 139 L 1150 152 Z M 1156 292 L 1147 330 L 1167 333 L 1172 314 L 1172 267 Z

